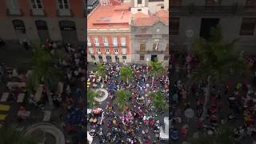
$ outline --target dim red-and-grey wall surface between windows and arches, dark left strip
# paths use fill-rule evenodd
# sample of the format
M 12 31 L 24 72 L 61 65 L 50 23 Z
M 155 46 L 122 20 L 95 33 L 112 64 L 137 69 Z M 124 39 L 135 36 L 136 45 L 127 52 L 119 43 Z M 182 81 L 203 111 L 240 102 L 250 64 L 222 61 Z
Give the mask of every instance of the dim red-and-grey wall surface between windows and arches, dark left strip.
M 30 40 L 38 39 L 38 30 L 35 26 L 36 20 L 46 21 L 50 38 L 54 41 L 61 41 L 62 35 L 58 22 L 72 21 L 75 22 L 78 42 L 84 42 L 86 38 L 86 21 L 84 16 L 84 3 L 82 0 L 70 1 L 70 10 L 73 16 L 71 17 L 58 17 L 57 16 L 57 1 L 43 0 L 42 7 L 46 12 L 46 16 L 33 16 L 30 13 L 31 3 L 29 0 L 18 0 L 19 7 L 22 10 L 22 16 L 8 16 L 6 14 L 7 3 L 5 0 L 0 0 L 0 38 L 6 40 L 18 40 L 15 33 L 12 21 L 14 19 L 22 20 L 26 27 L 26 38 Z

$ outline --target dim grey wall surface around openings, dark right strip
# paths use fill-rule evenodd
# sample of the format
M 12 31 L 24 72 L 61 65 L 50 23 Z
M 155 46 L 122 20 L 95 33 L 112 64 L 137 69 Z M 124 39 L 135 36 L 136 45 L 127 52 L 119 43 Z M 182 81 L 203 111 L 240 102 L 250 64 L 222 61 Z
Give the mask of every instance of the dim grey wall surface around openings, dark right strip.
M 194 3 L 196 6 L 205 5 L 205 1 L 201 0 L 182 0 L 182 5 L 186 6 L 190 3 Z M 233 6 L 234 3 L 238 3 L 240 6 L 246 4 L 246 0 L 222 0 L 222 6 Z M 179 34 L 170 35 L 170 41 L 174 45 L 190 45 L 192 39 L 199 38 L 201 30 L 202 18 L 220 18 L 219 25 L 222 27 L 222 35 L 225 41 L 230 41 L 234 38 L 238 38 L 237 50 L 244 50 L 248 53 L 256 54 L 256 28 L 254 35 L 242 36 L 240 35 L 240 29 L 242 25 L 242 18 L 256 18 L 255 14 L 223 14 L 212 13 L 212 14 L 175 14 L 173 17 L 180 18 L 179 23 Z M 193 38 L 186 37 L 186 30 L 193 30 Z M 177 47 L 178 48 L 178 47 Z

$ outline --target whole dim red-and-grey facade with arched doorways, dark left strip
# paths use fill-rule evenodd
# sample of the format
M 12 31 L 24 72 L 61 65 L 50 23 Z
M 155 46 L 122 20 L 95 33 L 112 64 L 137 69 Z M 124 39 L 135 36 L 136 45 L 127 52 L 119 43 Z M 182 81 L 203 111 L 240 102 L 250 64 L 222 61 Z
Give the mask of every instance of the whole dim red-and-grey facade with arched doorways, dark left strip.
M 0 38 L 84 42 L 86 0 L 0 0 Z

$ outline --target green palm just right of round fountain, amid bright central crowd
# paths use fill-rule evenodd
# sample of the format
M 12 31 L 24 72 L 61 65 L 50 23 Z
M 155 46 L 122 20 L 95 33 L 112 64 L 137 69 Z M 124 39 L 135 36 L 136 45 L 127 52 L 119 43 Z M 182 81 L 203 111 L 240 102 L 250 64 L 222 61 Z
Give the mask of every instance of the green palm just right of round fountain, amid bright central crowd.
M 114 92 L 114 103 L 118 105 L 120 110 L 125 110 L 125 107 L 128 106 L 127 101 L 130 97 L 130 91 L 117 90 Z

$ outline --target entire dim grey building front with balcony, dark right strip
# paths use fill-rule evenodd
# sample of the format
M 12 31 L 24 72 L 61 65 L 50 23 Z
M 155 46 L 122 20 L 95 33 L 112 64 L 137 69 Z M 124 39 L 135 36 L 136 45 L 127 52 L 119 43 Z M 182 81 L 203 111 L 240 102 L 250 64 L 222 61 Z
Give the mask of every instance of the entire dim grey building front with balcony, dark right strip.
M 238 38 L 238 50 L 256 52 L 255 0 L 170 0 L 172 49 L 190 49 L 194 38 L 209 38 L 220 26 L 224 40 Z

